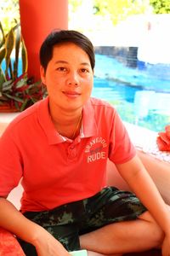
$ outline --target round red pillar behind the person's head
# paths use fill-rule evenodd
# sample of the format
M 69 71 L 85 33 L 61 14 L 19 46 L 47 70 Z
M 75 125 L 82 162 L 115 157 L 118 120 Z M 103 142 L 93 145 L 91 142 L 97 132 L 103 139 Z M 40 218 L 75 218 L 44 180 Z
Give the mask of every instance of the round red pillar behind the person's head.
M 20 25 L 28 53 L 28 76 L 37 81 L 43 39 L 53 29 L 68 28 L 68 0 L 20 0 Z

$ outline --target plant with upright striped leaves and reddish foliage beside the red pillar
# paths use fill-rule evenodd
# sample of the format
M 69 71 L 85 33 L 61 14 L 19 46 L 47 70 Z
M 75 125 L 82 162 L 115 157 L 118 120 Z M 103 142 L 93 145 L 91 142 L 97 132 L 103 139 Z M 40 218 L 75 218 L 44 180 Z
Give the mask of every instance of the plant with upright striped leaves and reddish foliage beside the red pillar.
M 0 22 L 0 31 L 0 112 L 23 111 L 46 96 L 46 90 L 40 81 L 27 77 L 27 53 L 20 24 L 16 22 L 5 34 Z

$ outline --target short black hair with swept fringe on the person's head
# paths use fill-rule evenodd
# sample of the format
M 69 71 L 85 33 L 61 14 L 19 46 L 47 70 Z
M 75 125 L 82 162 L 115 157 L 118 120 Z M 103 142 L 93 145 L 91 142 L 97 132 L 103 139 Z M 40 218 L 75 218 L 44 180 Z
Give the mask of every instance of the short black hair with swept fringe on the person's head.
M 65 43 L 77 44 L 77 46 L 82 48 L 88 54 L 91 67 L 94 70 L 95 55 L 92 42 L 81 32 L 74 30 L 54 30 L 48 34 L 48 37 L 45 38 L 40 48 L 40 63 L 45 71 L 48 67 L 48 62 L 53 57 L 54 46 Z

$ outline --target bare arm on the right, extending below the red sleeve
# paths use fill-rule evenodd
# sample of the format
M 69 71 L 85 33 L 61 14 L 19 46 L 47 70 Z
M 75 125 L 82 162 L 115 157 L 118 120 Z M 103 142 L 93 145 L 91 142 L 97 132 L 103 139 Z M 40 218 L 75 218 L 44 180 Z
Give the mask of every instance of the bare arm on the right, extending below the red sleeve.
M 170 212 L 139 157 L 136 155 L 127 163 L 116 165 L 116 168 L 161 229 L 170 235 Z

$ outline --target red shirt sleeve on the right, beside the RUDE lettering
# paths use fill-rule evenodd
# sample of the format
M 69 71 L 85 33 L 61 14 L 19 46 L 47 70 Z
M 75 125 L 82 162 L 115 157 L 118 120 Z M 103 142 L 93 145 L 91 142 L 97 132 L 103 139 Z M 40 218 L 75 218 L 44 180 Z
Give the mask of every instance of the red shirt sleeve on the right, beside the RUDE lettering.
M 133 159 L 135 154 L 136 149 L 128 136 L 125 125 L 123 125 L 122 119 L 115 111 L 111 130 L 109 158 L 115 164 L 123 164 Z

